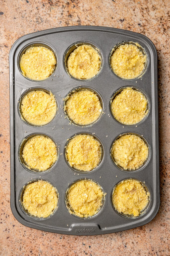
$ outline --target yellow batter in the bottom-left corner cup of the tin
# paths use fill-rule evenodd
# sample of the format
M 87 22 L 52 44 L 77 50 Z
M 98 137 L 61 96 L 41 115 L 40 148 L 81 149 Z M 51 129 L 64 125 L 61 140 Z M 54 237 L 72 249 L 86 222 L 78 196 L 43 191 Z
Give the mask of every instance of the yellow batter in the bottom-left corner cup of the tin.
M 57 190 L 45 180 L 32 182 L 24 189 L 22 206 L 32 216 L 46 218 L 53 214 L 57 204 Z

